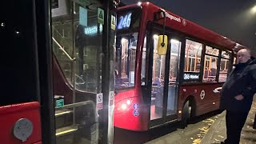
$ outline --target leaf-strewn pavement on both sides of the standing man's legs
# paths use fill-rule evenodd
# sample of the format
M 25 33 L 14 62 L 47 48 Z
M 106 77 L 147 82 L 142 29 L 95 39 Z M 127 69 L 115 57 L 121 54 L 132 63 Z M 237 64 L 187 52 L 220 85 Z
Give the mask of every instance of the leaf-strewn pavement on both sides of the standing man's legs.
M 240 144 L 256 144 L 256 130 L 253 129 L 254 117 L 256 113 L 256 95 L 251 106 L 246 123 L 242 128 Z M 226 111 L 218 114 L 218 118 L 210 126 L 207 133 L 202 138 L 200 144 L 220 143 L 226 139 Z

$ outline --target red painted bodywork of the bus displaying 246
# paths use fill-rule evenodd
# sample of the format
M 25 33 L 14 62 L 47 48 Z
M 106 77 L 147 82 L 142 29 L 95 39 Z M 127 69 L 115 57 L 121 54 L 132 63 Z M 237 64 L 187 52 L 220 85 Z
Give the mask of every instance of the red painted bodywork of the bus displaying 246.
M 138 7 L 137 4 L 130 6 L 123 6 L 118 8 L 118 10 L 126 10 L 134 7 Z M 158 11 L 160 7 L 155 6 L 150 2 L 142 2 L 142 18 L 140 24 L 139 38 L 138 38 L 138 46 L 136 52 L 136 65 L 135 65 L 135 86 L 134 86 L 134 102 L 138 102 L 140 109 L 140 114 L 138 117 L 133 116 L 133 109 L 129 109 L 122 114 L 114 114 L 114 126 L 126 129 L 126 130 L 148 130 L 149 122 L 150 122 L 150 110 L 146 108 L 146 102 L 143 102 L 142 99 L 142 90 L 141 90 L 141 69 L 142 69 L 142 49 L 144 44 L 144 38 L 146 34 L 146 26 L 147 22 L 153 21 L 154 12 Z M 211 30 L 208 30 L 202 26 L 198 26 L 194 22 L 190 22 L 185 18 L 182 18 L 176 14 L 172 14 L 166 11 L 168 14 L 173 15 L 174 17 L 180 18 L 181 22 L 177 22 L 171 20 L 170 18 L 166 18 L 166 27 L 169 27 L 174 30 L 178 30 L 179 32 L 186 34 L 187 36 L 195 37 L 201 39 L 204 42 L 209 42 L 214 45 L 218 45 L 219 47 L 226 50 L 240 50 L 242 48 L 246 48 L 245 46 L 239 45 L 238 43 L 225 38 L 220 34 L 216 34 Z M 183 24 L 186 22 L 186 24 Z M 162 24 L 162 20 L 158 21 L 159 24 Z M 138 77 L 139 76 L 139 77 Z M 211 83 L 211 84 L 201 84 L 194 86 L 180 86 L 178 97 L 178 110 L 182 110 L 183 103 L 186 101 L 191 94 L 196 101 L 196 107 L 194 115 L 206 114 L 212 110 L 218 110 L 219 106 L 219 94 L 215 94 L 213 92 L 214 88 L 222 86 L 222 83 Z M 183 89 L 186 89 L 186 92 L 183 92 Z M 197 92 L 195 93 L 194 90 Z M 200 93 L 202 90 L 206 91 L 206 97 L 202 100 L 200 98 Z M 129 95 L 127 95 L 129 96 Z M 126 92 L 121 92 L 115 96 L 115 103 L 122 100 L 122 98 L 126 97 Z M 213 102 L 215 104 L 213 105 Z M 178 120 L 181 120 L 181 114 L 178 114 Z

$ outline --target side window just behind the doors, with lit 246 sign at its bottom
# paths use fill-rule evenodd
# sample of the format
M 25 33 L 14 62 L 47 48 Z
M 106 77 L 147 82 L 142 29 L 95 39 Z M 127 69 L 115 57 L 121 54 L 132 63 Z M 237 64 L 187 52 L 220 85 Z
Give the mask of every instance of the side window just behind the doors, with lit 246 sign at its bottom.
M 185 82 L 199 80 L 202 55 L 202 43 L 186 39 L 185 67 L 183 79 Z

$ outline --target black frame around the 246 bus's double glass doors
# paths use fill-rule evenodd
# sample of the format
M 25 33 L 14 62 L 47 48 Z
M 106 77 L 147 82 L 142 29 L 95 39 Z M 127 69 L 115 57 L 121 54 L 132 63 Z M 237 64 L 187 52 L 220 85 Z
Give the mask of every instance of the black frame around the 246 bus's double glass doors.
M 146 98 L 148 99 L 149 105 L 148 105 L 148 111 L 149 111 L 149 128 L 154 127 L 154 126 L 160 126 L 165 123 L 173 122 L 178 118 L 178 105 L 177 105 L 177 112 L 176 114 L 173 115 L 166 115 L 167 114 L 167 98 L 168 98 L 168 88 L 169 88 L 169 73 L 170 73 L 170 50 L 171 50 L 171 45 L 170 45 L 170 39 L 175 38 L 178 39 L 179 42 L 184 42 L 183 39 L 185 37 L 182 37 L 182 34 L 178 34 L 178 32 L 174 30 L 167 29 L 166 30 L 166 35 L 169 37 L 168 38 L 168 46 L 167 46 L 167 53 L 166 53 L 166 62 L 165 62 L 165 76 L 164 76 L 164 90 L 163 90 L 163 98 L 162 98 L 162 118 L 150 120 L 150 106 L 151 106 L 151 90 L 152 90 L 152 68 L 153 68 L 153 57 L 154 53 L 152 50 L 154 50 L 154 41 L 153 41 L 153 35 L 154 31 L 162 32 L 162 26 L 158 25 L 154 22 L 149 22 L 147 26 L 148 33 L 146 35 L 146 85 L 143 90 L 145 91 Z M 182 56 L 182 46 L 180 50 L 180 57 Z M 181 64 L 182 58 L 179 58 L 179 64 Z M 178 75 L 180 74 L 181 70 L 178 70 Z M 179 82 L 180 78 L 177 78 L 176 82 Z M 144 86 L 143 86 L 144 87 Z M 178 83 L 177 83 L 177 92 L 176 92 L 176 97 L 178 97 Z M 178 104 L 178 99 L 177 99 L 177 104 Z

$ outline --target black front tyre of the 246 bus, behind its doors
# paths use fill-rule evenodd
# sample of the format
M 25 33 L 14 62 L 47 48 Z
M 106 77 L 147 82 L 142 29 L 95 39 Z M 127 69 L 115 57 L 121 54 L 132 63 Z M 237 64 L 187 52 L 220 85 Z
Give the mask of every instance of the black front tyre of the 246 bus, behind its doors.
M 190 121 L 191 106 L 190 102 L 187 101 L 182 109 L 182 126 L 185 128 Z

